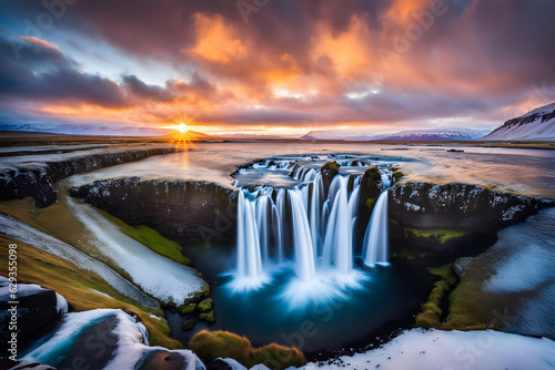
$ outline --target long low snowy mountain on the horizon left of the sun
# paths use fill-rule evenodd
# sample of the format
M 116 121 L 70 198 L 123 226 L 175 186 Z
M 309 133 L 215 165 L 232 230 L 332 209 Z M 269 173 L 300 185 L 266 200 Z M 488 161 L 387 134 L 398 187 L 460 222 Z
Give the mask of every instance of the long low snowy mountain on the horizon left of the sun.
M 168 130 L 134 127 L 134 126 L 99 126 L 93 124 L 0 124 L 0 131 L 30 131 L 46 132 L 65 135 L 102 135 L 102 136 L 161 136 L 168 134 Z

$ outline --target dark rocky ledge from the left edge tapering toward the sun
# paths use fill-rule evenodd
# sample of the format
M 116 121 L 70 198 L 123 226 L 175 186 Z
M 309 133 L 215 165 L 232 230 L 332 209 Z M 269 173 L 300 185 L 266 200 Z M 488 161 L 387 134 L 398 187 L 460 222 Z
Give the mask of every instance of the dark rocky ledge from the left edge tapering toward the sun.
M 93 154 L 60 162 L 46 162 L 36 167 L 0 171 L 0 201 L 31 196 L 39 207 L 58 199 L 53 184 L 64 177 L 100 169 L 117 164 L 144 160 L 152 155 L 172 153 L 172 148 L 157 147 L 118 153 Z

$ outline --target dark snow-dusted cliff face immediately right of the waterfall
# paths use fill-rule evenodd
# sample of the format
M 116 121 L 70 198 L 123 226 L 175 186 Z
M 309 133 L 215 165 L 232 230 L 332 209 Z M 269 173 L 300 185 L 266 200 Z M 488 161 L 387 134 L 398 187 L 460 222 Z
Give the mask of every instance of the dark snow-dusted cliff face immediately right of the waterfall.
M 553 205 L 541 198 L 466 184 L 407 183 L 390 192 L 393 249 L 464 251 L 491 245 L 496 233 Z

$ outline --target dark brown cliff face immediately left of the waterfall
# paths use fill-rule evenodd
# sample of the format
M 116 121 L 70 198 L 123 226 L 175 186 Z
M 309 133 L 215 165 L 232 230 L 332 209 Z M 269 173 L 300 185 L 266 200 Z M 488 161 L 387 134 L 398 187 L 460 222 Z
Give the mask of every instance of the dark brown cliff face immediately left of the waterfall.
M 216 184 L 130 177 L 98 181 L 70 195 L 178 241 L 235 237 L 236 191 Z

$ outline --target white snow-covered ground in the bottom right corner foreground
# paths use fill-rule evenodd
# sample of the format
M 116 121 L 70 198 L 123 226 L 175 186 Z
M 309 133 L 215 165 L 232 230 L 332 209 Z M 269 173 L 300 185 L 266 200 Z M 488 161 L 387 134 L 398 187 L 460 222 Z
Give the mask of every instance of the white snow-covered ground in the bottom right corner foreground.
M 555 342 L 492 330 L 412 329 L 379 349 L 303 369 L 547 370 L 555 369 Z

